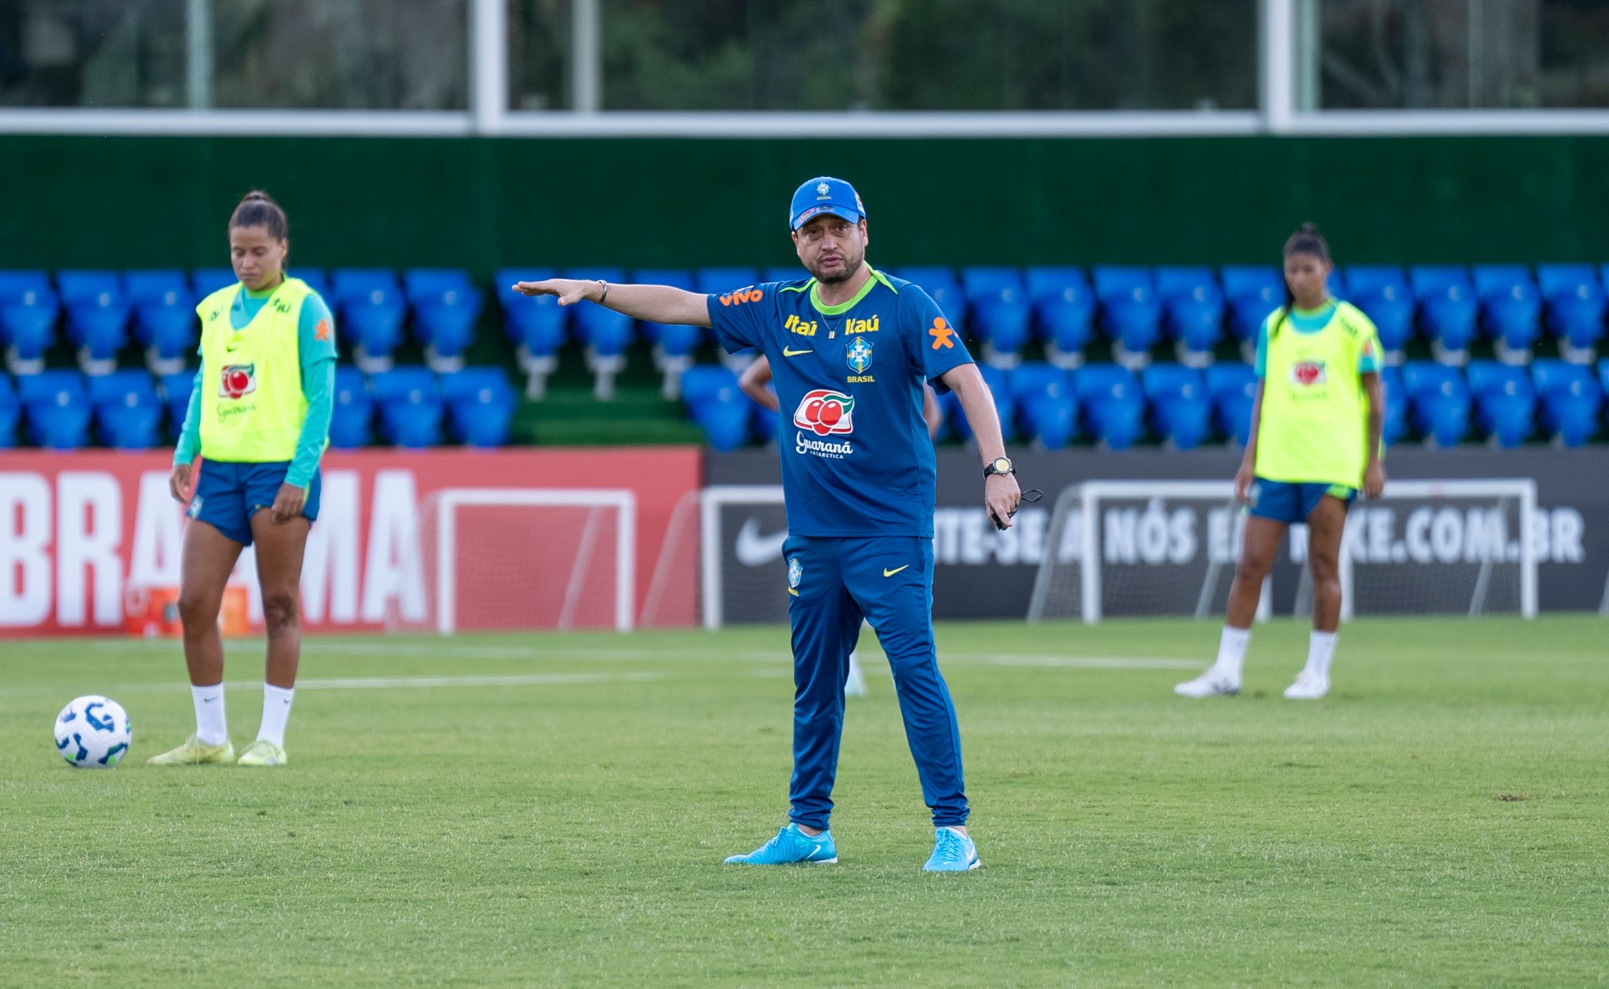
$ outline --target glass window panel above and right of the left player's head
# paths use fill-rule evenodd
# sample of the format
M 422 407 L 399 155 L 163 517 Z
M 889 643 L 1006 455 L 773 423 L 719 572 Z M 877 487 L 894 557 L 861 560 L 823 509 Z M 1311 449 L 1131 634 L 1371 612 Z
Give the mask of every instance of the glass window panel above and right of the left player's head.
M 212 16 L 214 106 L 468 106 L 468 0 L 212 0 Z

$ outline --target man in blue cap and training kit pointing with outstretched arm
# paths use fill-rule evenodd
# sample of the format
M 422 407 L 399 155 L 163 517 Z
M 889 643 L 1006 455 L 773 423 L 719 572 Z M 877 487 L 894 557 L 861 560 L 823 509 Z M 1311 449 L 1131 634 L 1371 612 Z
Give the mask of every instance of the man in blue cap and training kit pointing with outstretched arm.
M 730 352 L 761 351 L 782 404 L 779 445 L 793 627 L 793 778 L 788 823 L 727 862 L 838 860 L 829 830 L 843 682 L 861 619 L 888 653 L 906 738 L 933 812 L 924 868 L 978 867 L 967 835 L 956 708 L 933 648 L 933 445 L 922 383 L 954 391 L 983 458 L 983 503 L 1010 526 L 1020 492 L 988 384 L 961 334 L 916 285 L 866 264 L 866 207 L 842 179 L 793 193 L 788 228 L 811 278 L 722 296 L 665 285 L 552 278 L 525 294 L 589 301 L 639 320 L 711 326 Z M 787 410 L 792 418 L 787 417 Z

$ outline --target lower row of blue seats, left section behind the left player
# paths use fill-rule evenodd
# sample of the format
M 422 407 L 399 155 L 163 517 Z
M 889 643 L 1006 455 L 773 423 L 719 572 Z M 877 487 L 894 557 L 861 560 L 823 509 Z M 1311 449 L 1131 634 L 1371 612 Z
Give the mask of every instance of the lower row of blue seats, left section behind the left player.
M 79 449 L 93 436 L 108 447 L 161 445 L 163 421 L 177 434 L 190 404 L 195 371 L 153 378 L 140 370 L 80 375 L 69 370 L 21 375 L 16 384 L 0 375 L 0 447 L 26 439 L 50 449 Z M 401 447 L 442 442 L 442 428 L 455 442 L 500 447 L 508 442 L 518 396 L 502 368 L 463 368 L 434 375 L 423 367 L 399 367 L 364 376 L 357 368 L 336 370 L 330 442 L 368 445 L 378 417 L 380 437 Z

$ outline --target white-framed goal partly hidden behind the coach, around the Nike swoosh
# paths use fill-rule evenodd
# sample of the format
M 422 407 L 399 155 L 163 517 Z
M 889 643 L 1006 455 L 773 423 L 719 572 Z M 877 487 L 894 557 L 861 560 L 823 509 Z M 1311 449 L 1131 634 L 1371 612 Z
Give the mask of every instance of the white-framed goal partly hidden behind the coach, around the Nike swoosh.
M 788 537 L 779 484 L 714 484 L 698 507 L 703 624 L 788 621 Z

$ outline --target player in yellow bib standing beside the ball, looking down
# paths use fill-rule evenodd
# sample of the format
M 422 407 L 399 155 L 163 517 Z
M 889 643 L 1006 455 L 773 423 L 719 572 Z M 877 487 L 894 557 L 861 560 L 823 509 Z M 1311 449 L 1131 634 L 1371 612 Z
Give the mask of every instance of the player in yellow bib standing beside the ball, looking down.
M 335 317 L 319 293 L 285 275 L 290 222 L 265 193 L 228 219 L 238 285 L 201 299 L 201 368 L 169 489 L 190 500 L 179 618 L 196 730 L 156 765 L 233 762 L 224 719 L 224 640 L 217 611 L 240 552 L 257 547 L 269 632 L 262 727 L 240 765 L 285 765 L 285 722 L 301 656 L 302 547 L 319 518 L 319 458 L 335 394 Z M 191 478 L 196 457 L 203 457 Z M 191 481 L 195 487 L 191 490 Z

